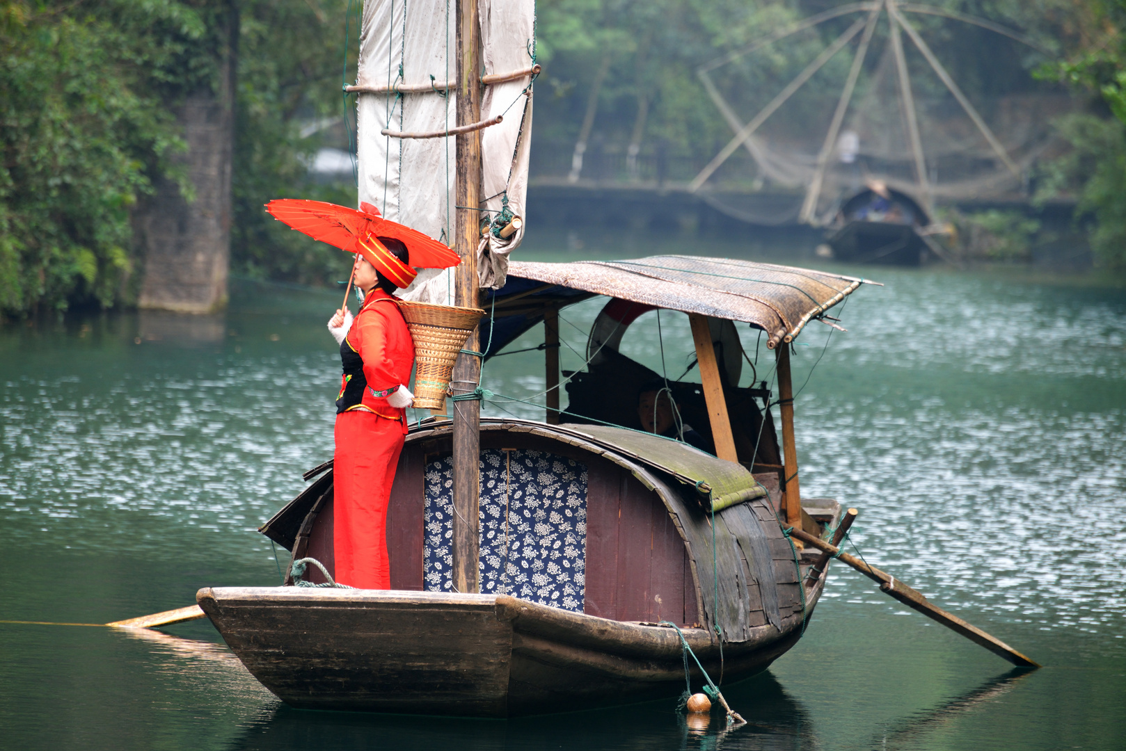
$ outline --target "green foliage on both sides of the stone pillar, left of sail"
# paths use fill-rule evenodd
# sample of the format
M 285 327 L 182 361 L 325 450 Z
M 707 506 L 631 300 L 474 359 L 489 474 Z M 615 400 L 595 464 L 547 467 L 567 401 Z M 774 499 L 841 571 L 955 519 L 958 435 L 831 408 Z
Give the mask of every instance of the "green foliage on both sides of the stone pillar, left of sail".
M 161 175 L 191 186 L 176 105 L 217 87 L 218 16 L 230 0 L 0 5 L 0 313 L 128 304 L 143 259 L 131 207 Z M 236 269 L 321 280 L 342 265 L 267 221 L 307 185 L 319 145 L 300 123 L 341 108 L 347 3 L 240 3 L 232 257 Z

